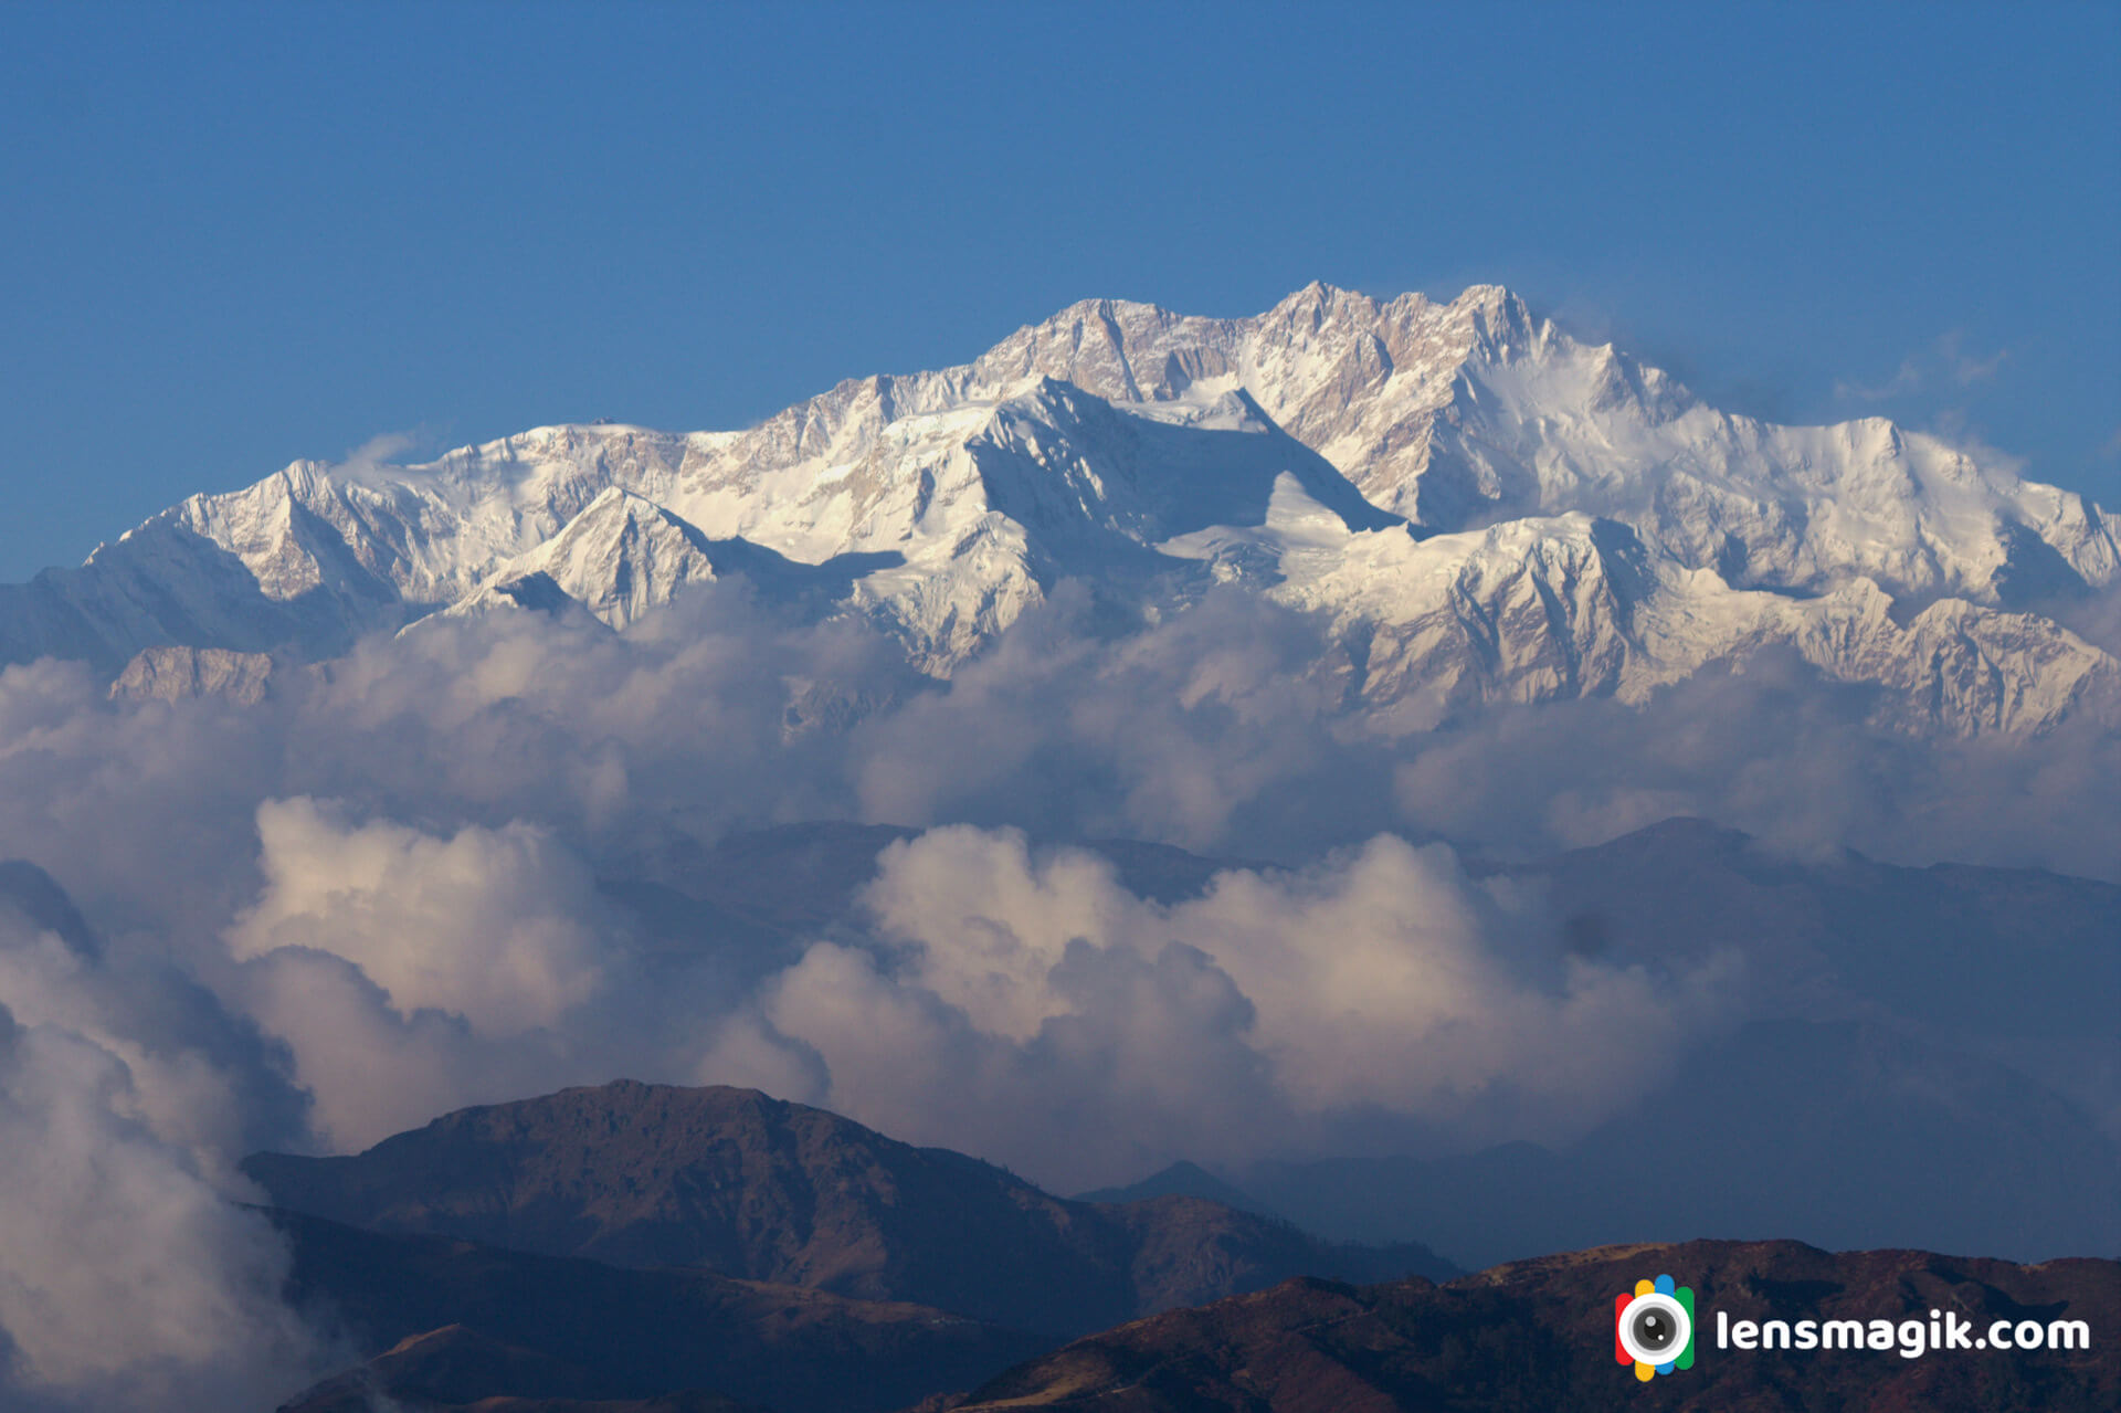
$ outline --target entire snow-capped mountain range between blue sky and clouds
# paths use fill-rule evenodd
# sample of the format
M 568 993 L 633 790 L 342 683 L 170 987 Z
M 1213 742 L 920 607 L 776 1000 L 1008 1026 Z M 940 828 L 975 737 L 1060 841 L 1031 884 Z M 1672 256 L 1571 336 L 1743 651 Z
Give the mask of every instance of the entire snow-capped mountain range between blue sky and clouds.
M 329 658 L 435 613 L 624 630 L 725 575 L 859 613 L 948 677 L 1067 577 L 1317 611 L 1351 709 L 1640 700 L 1775 645 L 1911 730 L 2121 721 L 2043 609 L 2121 592 L 2113 522 L 1936 437 L 1775 426 L 1497 286 L 1313 284 L 1256 318 L 1084 301 L 978 361 L 740 433 L 541 426 L 428 465 L 295 463 L 0 588 L 0 662 Z

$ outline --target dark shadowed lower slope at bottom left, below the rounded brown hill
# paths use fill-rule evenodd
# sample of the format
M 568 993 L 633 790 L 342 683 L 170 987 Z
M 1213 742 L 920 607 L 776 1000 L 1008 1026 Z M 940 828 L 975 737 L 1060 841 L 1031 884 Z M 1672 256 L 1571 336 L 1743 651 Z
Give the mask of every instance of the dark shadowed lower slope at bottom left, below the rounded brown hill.
M 672 1407 L 715 1413 L 874 1413 L 978 1383 L 1052 1343 L 923 1305 L 271 1218 L 295 1258 L 288 1296 L 369 1356 L 284 1405 L 291 1413 L 670 1390 L 696 1390 Z

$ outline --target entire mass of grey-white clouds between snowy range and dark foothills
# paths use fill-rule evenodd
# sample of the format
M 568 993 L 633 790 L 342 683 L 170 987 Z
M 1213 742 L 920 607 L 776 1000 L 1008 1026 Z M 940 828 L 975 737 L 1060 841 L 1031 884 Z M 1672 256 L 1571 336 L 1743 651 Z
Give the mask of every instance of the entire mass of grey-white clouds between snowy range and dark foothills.
M 95 934 L 0 936 L 0 1390 L 291 1392 L 322 1345 L 229 1205 L 263 1146 L 617 1076 L 759 1084 L 1058 1188 L 1565 1139 L 1724 1025 L 1746 970 L 1565 957 L 1472 857 L 1705 815 L 1803 855 L 2121 876 L 2110 736 L 1917 745 L 1763 658 L 1387 743 L 1319 660 L 1313 622 L 1251 598 L 1111 624 L 1063 588 L 935 685 L 713 586 L 626 639 L 433 624 L 248 709 L 0 670 L 0 857 Z M 598 889 L 672 838 L 802 819 L 929 832 L 785 955 L 672 950 Z M 1111 836 L 1294 868 L 1156 902 L 1031 842 Z

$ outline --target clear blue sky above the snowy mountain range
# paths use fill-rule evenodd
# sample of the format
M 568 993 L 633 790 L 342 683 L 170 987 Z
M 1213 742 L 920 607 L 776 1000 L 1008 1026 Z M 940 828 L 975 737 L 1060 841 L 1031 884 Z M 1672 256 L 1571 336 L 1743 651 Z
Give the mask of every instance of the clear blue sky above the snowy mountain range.
M 384 433 L 1500 280 L 2121 503 L 2121 6 L 0 6 L 0 579 Z

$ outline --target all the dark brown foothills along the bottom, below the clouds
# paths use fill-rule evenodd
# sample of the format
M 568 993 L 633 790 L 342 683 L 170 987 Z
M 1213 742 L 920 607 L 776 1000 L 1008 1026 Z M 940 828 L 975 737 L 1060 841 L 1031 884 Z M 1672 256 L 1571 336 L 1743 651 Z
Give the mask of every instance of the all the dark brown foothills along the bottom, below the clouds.
M 2113 1260 L 1695 1241 L 1457 1275 L 1192 1194 L 1217 1184 L 1200 1169 L 1067 1201 L 740 1088 L 571 1088 L 244 1167 L 291 1239 L 291 1296 L 365 1356 L 286 1413 L 1603 1409 L 1640 1396 L 1612 1296 L 1667 1271 L 1733 1320 L 1934 1307 L 2096 1337 L 1922 1362 L 1703 1351 L 1659 1390 L 1676 1407 L 2108 1409 L 2121 1390 Z

